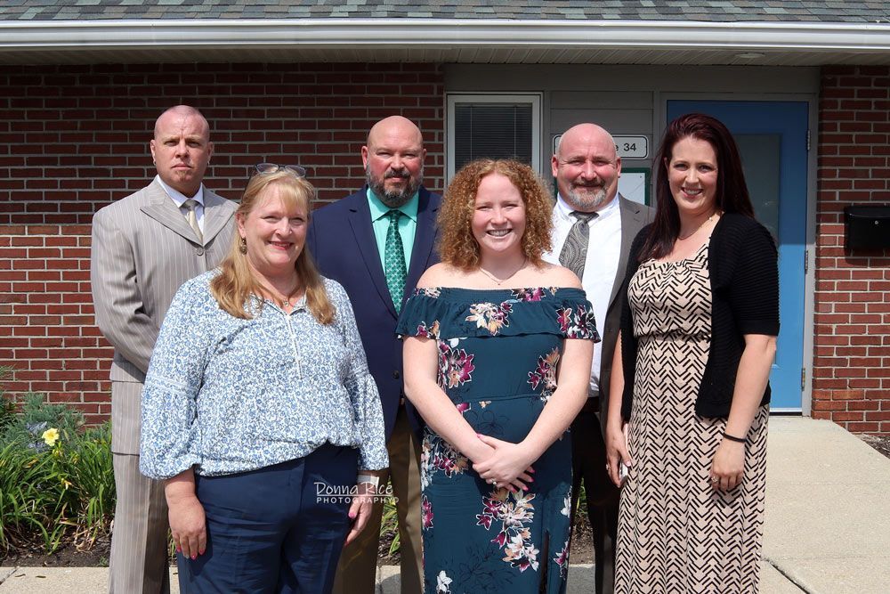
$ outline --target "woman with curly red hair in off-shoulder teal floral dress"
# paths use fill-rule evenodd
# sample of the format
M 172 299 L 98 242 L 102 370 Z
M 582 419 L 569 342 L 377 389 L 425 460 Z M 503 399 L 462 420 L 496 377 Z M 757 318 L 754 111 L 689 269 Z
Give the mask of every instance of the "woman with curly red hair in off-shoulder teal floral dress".
M 421 458 L 425 591 L 565 590 L 571 449 L 598 340 L 569 270 L 546 264 L 551 206 L 530 167 L 480 160 L 439 213 L 441 261 L 402 312 Z

